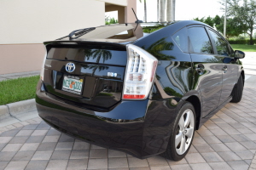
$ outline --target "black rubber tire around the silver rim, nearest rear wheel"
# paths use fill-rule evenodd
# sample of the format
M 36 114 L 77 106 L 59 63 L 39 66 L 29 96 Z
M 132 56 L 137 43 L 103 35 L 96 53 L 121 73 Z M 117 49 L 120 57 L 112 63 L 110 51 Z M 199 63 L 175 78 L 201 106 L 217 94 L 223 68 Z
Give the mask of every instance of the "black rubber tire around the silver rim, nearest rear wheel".
M 184 141 L 185 141 L 185 144 L 187 144 L 187 149 L 185 149 L 184 152 L 178 154 L 177 152 L 178 152 L 178 150 L 181 150 L 181 149 L 180 149 L 181 146 L 179 146 L 180 148 L 178 148 L 178 145 L 177 145 L 177 146 L 175 145 L 175 140 L 176 140 L 178 134 L 180 134 L 179 132 L 181 132 L 180 127 L 179 127 L 179 121 L 180 121 L 180 119 L 181 119 L 181 116 L 183 116 L 183 117 L 185 116 L 185 115 L 183 115 L 183 113 L 184 113 L 185 111 L 189 111 L 189 110 L 192 111 L 193 116 L 194 116 L 194 125 L 191 126 L 191 127 L 194 128 L 194 130 L 193 130 L 193 133 L 192 133 L 192 137 L 189 138 L 189 144 L 187 143 L 187 142 L 188 142 L 188 139 L 183 138 L 183 139 L 185 139 L 185 140 L 184 140 Z M 183 119 L 186 120 L 185 117 L 184 117 Z M 192 118 L 191 118 L 191 120 L 192 120 Z M 189 151 L 189 148 L 190 148 L 190 146 L 191 146 L 191 144 L 192 144 L 192 141 L 193 141 L 193 139 L 194 139 L 195 123 L 196 123 L 196 122 L 195 122 L 195 109 L 194 109 L 194 106 L 193 106 L 191 103 L 186 102 L 186 103 L 181 107 L 181 109 L 178 111 L 176 120 L 175 120 L 174 125 L 173 125 L 173 127 L 172 127 L 172 133 L 171 133 L 171 137 L 170 137 L 170 139 L 169 139 L 169 143 L 168 143 L 168 145 L 167 145 L 166 152 L 162 153 L 161 156 L 164 156 L 164 157 L 166 157 L 166 159 L 170 159 L 170 160 L 173 160 L 173 161 L 180 161 L 180 160 L 182 160 L 183 157 L 187 155 L 187 153 L 188 153 L 188 151 Z M 185 122 L 185 124 L 186 124 L 186 122 Z M 190 124 L 190 125 L 191 125 L 191 124 Z M 189 128 L 184 128 L 184 129 L 189 129 Z M 187 130 L 185 130 L 185 131 L 187 132 Z M 186 134 L 182 133 L 182 135 L 185 137 Z M 183 141 L 183 140 L 181 139 L 180 145 L 182 144 L 182 141 Z M 185 148 L 186 148 L 186 147 L 185 147 Z

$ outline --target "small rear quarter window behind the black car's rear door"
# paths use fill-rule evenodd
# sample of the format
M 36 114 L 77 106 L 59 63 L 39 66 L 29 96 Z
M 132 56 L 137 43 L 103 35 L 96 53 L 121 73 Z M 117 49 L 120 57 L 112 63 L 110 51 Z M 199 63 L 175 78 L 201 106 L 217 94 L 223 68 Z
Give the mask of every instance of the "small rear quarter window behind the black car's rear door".
M 183 28 L 180 31 L 177 31 L 172 36 L 174 42 L 177 43 L 177 46 L 183 51 L 188 52 L 189 46 L 188 46 L 188 32 L 187 28 Z

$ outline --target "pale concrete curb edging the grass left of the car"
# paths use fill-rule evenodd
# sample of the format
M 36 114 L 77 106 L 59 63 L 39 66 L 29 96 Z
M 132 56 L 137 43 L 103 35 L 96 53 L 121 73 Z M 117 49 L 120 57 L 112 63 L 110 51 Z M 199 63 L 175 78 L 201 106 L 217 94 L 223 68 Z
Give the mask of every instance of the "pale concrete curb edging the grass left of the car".
M 35 99 L 0 105 L 0 127 L 3 122 L 9 121 L 9 119 L 15 119 L 15 121 L 20 122 L 18 118 L 20 115 L 34 111 L 37 111 Z

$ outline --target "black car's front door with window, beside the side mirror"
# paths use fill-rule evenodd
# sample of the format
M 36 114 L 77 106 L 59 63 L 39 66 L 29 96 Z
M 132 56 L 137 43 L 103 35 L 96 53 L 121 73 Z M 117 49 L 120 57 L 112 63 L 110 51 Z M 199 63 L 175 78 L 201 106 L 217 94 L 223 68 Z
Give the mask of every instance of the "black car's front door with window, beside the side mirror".
M 236 59 L 233 56 L 234 51 L 230 48 L 229 43 L 224 40 L 224 37 L 220 36 L 216 31 L 213 31 L 210 28 L 207 28 L 207 31 L 212 38 L 213 48 L 216 50 L 216 57 L 220 57 L 223 61 L 223 85 L 218 104 L 221 105 L 230 97 L 232 89 L 238 80 L 237 72 L 239 66 L 236 65 Z

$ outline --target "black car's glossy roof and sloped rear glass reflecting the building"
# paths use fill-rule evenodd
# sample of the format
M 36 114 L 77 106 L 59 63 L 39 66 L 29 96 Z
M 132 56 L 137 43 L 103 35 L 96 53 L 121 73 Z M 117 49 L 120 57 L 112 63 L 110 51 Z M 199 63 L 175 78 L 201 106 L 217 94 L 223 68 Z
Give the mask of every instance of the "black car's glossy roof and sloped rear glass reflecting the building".
M 108 26 L 97 26 L 91 28 L 86 33 L 82 34 L 82 36 L 78 37 L 61 37 L 57 39 L 57 41 L 49 41 L 49 42 L 113 42 L 119 44 L 127 44 L 127 43 L 134 43 L 143 41 L 144 38 L 150 39 L 153 38 L 156 34 L 166 34 L 168 35 L 180 30 L 184 26 L 190 25 L 203 25 L 207 26 L 206 24 L 195 21 L 195 20 L 179 20 L 173 21 L 171 23 L 166 23 L 166 27 L 154 31 L 152 33 L 143 33 L 143 25 L 150 24 L 150 23 L 143 23 L 143 24 L 136 24 L 136 23 L 126 23 L 126 24 L 113 24 Z M 155 23 L 157 24 L 157 23 Z M 85 29 L 80 29 L 78 31 L 83 31 Z M 73 31 L 74 32 L 74 31 Z M 70 33 L 71 34 L 71 33 Z M 70 35 L 69 34 L 69 35 Z M 48 42 L 44 42 L 48 43 Z

